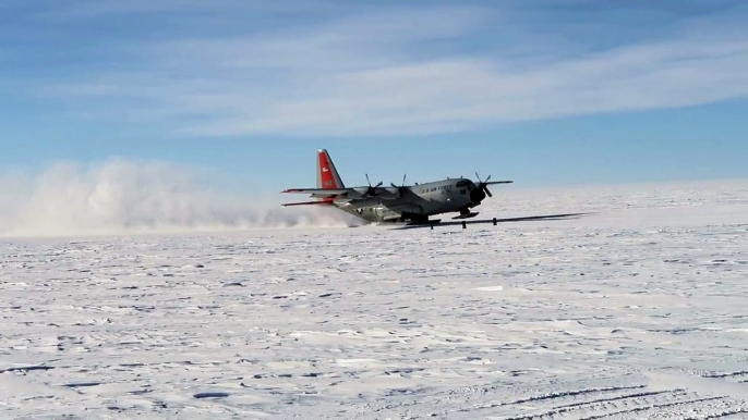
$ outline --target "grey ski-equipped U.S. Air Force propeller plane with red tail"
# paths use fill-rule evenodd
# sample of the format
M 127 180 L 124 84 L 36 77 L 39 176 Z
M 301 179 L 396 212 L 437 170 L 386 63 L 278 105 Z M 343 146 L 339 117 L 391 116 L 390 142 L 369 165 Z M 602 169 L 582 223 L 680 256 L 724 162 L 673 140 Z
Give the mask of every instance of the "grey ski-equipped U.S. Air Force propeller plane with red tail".
M 493 181 L 491 176 L 478 184 L 465 177 L 446 178 L 425 184 L 406 185 L 406 176 L 400 186 L 390 183 L 383 187 L 382 182 L 372 186 L 366 174 L 367 186 L 346 187 L 340 174 L 326 149 L 317 150 L 317 187 L 290 188 L 281 194 L 310 194 L 313 201 L 288 202 L 282 206 L 330 206 L 353 214 L 369 223 L 437 223 L 432 215 L 459 212 L 455 220 L 478 215 L 472 211 L 488 197 L 493 197 L 488 185 L 511 184 L 514 181 Z

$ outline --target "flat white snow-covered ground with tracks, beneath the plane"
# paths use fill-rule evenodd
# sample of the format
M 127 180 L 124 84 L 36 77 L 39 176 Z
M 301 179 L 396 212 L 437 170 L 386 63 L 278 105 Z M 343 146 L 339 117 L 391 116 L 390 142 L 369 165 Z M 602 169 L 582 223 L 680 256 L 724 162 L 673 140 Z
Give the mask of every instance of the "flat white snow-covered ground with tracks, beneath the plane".
M 493 193 L 596 213 L 2 239 L 0 417 L 748 418 L 748 183 Z

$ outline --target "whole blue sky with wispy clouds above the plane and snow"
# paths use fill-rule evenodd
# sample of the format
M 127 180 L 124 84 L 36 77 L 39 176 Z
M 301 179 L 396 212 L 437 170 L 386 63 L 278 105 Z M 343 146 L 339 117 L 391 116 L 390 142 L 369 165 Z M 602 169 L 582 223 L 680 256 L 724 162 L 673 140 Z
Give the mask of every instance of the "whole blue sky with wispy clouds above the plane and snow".
M 740 0 L 4 0 L 0 166 L 277 192 L 325 147 L 348 185 L 747 177 L 746 69 Z

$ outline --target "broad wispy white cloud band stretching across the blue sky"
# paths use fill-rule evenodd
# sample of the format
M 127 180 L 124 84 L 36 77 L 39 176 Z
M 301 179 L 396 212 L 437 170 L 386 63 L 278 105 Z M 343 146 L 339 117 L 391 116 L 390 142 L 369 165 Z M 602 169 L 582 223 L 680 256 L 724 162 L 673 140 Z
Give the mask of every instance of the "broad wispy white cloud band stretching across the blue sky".
M 430 134 L 748 95 L 748 29 L 724 15 L 684 21 L 649 40 L 558 53 L 555 44 L 541 45 L 550 29 L 535 37 L 503 13 L 402 8 L 137 45 L 137 71 L 49 91 L 99 98 L 118 115 L 173 119 L 179 132 L 300 136 Z M 499 23 L 507 29 L 491 28 Z M 117 107 L 121 98 L 132 106 Z

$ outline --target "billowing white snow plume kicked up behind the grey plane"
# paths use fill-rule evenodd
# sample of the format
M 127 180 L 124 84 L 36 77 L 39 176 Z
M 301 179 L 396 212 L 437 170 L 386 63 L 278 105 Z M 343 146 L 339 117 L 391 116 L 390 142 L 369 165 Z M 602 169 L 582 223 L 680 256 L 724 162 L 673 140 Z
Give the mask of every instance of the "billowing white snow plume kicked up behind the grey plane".
M 346 226 L 335 209 L 285 209 L 203 181 L 164 162 L 111 160 L 55 164 L 34 175 L 0 176 L 0 236 L 60 236 L 253 227 Z

